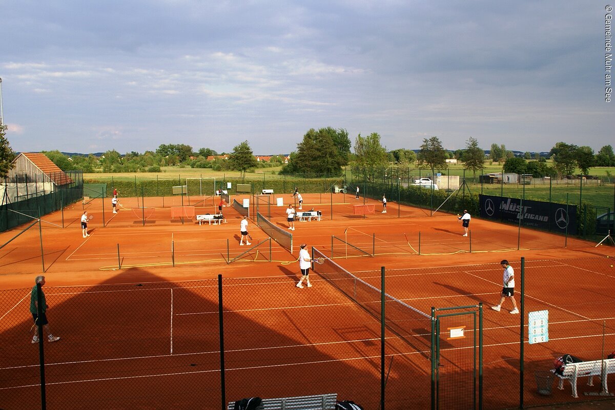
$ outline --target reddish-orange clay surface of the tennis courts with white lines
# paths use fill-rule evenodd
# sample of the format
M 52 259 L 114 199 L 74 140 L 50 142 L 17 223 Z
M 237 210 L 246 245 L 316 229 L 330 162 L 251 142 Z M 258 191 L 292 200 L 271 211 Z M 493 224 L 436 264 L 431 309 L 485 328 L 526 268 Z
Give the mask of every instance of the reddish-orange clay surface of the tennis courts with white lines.
M 478 218 L 470 223 L 470 237 L 462 237 L 454 215 L 431 216 L 429 210 L 398 207 L 391 200 L 386 214 L 369 201 L 375 213 L 354 215 L 354 195 L 303 197 L 303 208 L 322 211 L 322 218 L 295 223 L 293 254 L 272 242 L 272 261 L 268 245 L 261 245 L 226 263 L 228 256 L 247 251 L 239 246 L 240 215 L 230 207 L 224 210 L 226 224 L 199 225 L 187 216 L 181 221 L 162 207 L 153 207 L 144 224 L 132 208 L 132 215 L 121 209 L 107 219 L 113 214 L 106 204 L 103 224 L 103 210 L 92 205 L 95 218 L 87 239 L 79 226 L 81 204 L 65 209 L 63 221 L 60 213 L 44 217 L 65 226 L 41 224 L 49 318 L 54 334 L 62 337 L 45 345 L 47 408 L 192 408 L 199 403 L 219 409 L 218 274 L 223 275 L 226 401 L 338 393 L 340 399 L 376 408 L 380 323 L 317 273 L 311 275 L 312 288 L 296 289 L 300 243 L 332 256 L 376 287 L 380 268 L 386 267 L 386 292 L 427 314 L 432 306 L 483 303 L 484 408 L 518 403 L 514 388 L 508 395 L 501 392 L 510 389 L 511 380 L 518 386 L 523 318 L 507 312 L 509 301 L 501 312 L 489 309 L 499 299 L 501 259 L 520 274 L 525 258 L 525 313 L 549 310 L 550 341 L 525 345 L 528 404 L 571 401 L 569 384 L 548 398 L 536 393 L 534 371 L 548 369 L 554 357 L 577 353 L 595 360 L 603 345 L 615 346 L 609 291 L 615 278 L 613 248 Z M 286 195 L 284 207 L 270 207 L 271 221 L 282 229 L 289 200 Z M 216 208 L 212 203 L 195 215 Z M 249 232 L 253 245 L 267 239 L 252 220 Z M 41 274 L 33 257 L 37 246 L 40 256 L 34 233 L 21 235 L 0 255 L 0 286 L 12 290 L 3 292 L 0 311 L 6 341 L 0 408 L 34 408 L 39 400 L 38 349 L 28 333 L 29 292 L 34 276 Z M 14 235 L 4 232 L 2 243 Z M 431 365 L 422 346 L 428 335 L 399 337 L 387 329 L 386 336 L 387 408 L 427 408 Z M 459 373 L 465 360 L 466 347 L 455 343 L 446 345 L 443 374 Z M 599 388 L 579 382 L 581 397 L 574 400 L 588 400 L 584 391 Z

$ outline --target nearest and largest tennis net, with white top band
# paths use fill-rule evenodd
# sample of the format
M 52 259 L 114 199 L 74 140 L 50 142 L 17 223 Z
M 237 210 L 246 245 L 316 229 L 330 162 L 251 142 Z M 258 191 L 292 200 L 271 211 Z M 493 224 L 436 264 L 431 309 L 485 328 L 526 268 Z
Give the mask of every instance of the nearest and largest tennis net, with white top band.
M 362 307 L 376 320 L 381 320 L 381 299 L 383 293 L 375 286 L 356 277 L 336 264 L 316 248 L 312 248 L 314 259 L 322 264 L 314 264 L 314 272 L 325 278 L 347 298 Z M 322 258 L 322 259 L 321 259 Z M 431 352 L 431 315 L 421 312 L 399 299 L 384 293 L 384 325 L 403 341 L 427 357 Z

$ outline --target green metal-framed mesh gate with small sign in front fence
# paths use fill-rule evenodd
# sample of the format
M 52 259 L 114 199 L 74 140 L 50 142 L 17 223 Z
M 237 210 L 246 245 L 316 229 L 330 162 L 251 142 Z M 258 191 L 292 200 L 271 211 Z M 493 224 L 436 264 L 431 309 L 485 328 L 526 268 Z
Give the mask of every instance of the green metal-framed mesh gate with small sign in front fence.
M 482 304 L 432 307 L 432 318 L 432 410 L 482 410 Z

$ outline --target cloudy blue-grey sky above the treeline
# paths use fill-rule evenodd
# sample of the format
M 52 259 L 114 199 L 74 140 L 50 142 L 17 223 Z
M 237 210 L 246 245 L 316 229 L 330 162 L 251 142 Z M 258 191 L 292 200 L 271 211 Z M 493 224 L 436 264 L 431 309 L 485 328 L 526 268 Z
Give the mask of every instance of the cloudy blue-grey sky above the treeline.
M 389 150 L 598 152 L 607 5 L 0 0 L 4 124 L 18 152 L 288 154 L 322 127 Z

